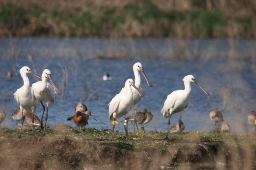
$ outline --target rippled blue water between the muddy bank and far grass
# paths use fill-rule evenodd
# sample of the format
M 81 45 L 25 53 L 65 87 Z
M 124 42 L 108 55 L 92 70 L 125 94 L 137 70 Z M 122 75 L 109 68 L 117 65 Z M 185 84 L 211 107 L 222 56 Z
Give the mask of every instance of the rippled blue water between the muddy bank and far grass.
M 184 131 L 209 132 L 215 125 L 209 118 L 212 109 L 220 109 L 232 133 L 248 133 L 252 126 L 247 117 L 256 110 L 255 40 L 211 39 L 82 39 L 82 38 L 17 38 L 0 39 L 0 108 L 6 113 L 1 126 L 16 128 L 11 115 L 19 106 L 13 93 L 23 85 L 19 69 L 28 66 L 41 76 L 47 68 L 61 90 L 49 106 L 47 124 L 74 123 L 66 120 L 75 114 L 79 101 L 92 112 L 97 121 L 89 119 L 88 128 L 111 129 L 108 103 L 119 93 L 127 79 L 134 79 L 133 64 L 140 62 L 153 84 L 150 88 L 142 77 L 145 96 L 138 110 L 147 108 L 154 115 L 146 130 L 166 131 L 167 119 L 160 113 L 172 91 L 184 89 L 182 79 L 192 74 L 208 91 L 207 95 L 194 83 L 188 107 L 182 120 Z M 29 59 L 28 55 L 31 56 Z M 102 59 L 122 56 L 123 59 Z M 12 78 L 4 75 L 11 71 Z M 113 79 L 103 81 L 109 73 Z M 36 82 L 28 75 L 30 84 Z M 130 111 L 132 114 L 134 108 Z M 41 118 L 42 106 L 37 113 Z M 129 114 L 129 115 L 130 115 Z M 179 114 L 171 118 L 176 123 Z M 116 130 L 124 131 L 124 118 L 119 118 Z M 133 130 L 129 124 L 129 130 Z

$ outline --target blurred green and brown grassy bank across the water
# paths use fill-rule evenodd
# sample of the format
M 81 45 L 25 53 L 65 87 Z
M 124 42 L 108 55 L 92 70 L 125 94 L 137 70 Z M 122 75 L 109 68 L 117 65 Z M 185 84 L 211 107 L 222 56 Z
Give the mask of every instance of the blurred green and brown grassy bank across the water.
M 160 10 L 152 3 L 115 6 L 53 7 L 37 4 L 0 6 L 0 36 L 75 37 L 254 37 L 248 15 L 198 10 Z M 231 32 L 230 28 L 237 29 Z M 237 28 L 236 28 L 237 27 Z

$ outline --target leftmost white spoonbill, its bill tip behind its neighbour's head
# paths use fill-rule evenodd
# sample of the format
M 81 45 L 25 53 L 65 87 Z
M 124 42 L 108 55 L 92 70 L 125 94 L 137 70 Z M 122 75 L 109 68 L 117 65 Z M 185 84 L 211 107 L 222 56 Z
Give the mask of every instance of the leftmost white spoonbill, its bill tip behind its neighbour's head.
M 21 77 L 23 79 L 23 86 L 19 89 L 16 90 L 16 92 L 13 94 L 14 98 L 16 99 L 21 111 L 22 115 L 24 115 L 24 110 L 27 112 L 36 112 L 36 107 L 37 107 L 37 100 L 32 101 L 32 96 L 31 96 L 31 87 L 29 87 L 29 79 L 27 76 L 27 73 L 33 74 L 36 77 L 40 78 L 38 75 L 33 73 L 29 67 L 24 66 L 19 70 L 19 73 L 21 74 Z M 40 78 L 41 79 L 41 78 Z M 21 131 L 22 131 L 22 126 L 24 122 L 24 117 L 22 116 L 22 121 L 21 121 Z M 18 138 L 21 138 L 21 131 L 19 132 Z M 33 132 L 34 134 L 34 132 Z

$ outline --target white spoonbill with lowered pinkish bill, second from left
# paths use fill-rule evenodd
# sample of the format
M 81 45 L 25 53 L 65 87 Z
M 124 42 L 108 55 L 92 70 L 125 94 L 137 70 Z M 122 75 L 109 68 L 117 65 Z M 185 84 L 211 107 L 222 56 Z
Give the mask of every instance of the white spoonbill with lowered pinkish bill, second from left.
M 47 82 L 46 79 L 49 79 L 50 82 L 52 84 L 50 84 L 49 82 Z M 32 100 L 38 100 L 41 102 L 42 106 L 43 106 L 43 114 L 44 114 L 44 110 L 45 107 L 43 105 L 43 102 L 46 103 L 46 115 L 45 115 L 45 123 L 44 123 L 44 130 L 43 130 L 43 136 L 45 135 L 45 127 L 46 127 L 46 121 L 47 121 L 47 117 L 48 117 L 48 107 L 49 104 L 51 103 L 52 105 L 54 105 L 54 100 L 55 100 L 55 93 L 56 94 L 60 94 L 60 90 L 56 87 L 56 85 L 54 84 L 52 77 L 51 77 L 51 71 L 48 69 L 45 69 L 42 73 L 42 81 L 38 81 L 36 83 L 32 84 L 31 87 L 31 95 L 32 95 Z M 36 104 L 36 103 L 35 103 Z M 42 130 L 42 126 L 43 126 L 43 114 L 42 114 L 42 118 L 41 118 L 41 127 L 40 127 L 40 133 Z M 34 119 L 32 119 L 34 120 Z M 33 126 L 32 126 L 33 128 Z

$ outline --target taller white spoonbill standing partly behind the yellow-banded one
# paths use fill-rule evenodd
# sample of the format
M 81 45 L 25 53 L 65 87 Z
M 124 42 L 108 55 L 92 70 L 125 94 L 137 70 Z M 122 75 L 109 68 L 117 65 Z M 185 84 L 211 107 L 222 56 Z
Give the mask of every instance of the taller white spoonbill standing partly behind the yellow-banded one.
M 145 77 L 146 81 L 147 81 L 147 84 L 150 86 L 150 87 L 153 87 L 153 85 L 150 83 L 149 79 L 147 78 L 145 72 L 143 71 L 143 67 L 142 67 L 142 64 L 137 62 L 133 65 L 133 72 L 134 72 L 134 84 L 135 86 L 141 91 L 143 92 L 143 89 L 142 87 L 140 87 L 140 84 L 141 84 L 141 79 L 140 79 L 140 75 L 139 75 L 139 72 L 142 73 L 142 75 Z M 137 107 L 138 107 L 138 102 L 140 101 L 141 99 L 141 96 L 138 94 L 137 90 L 135 88 L 132 87 L 132 91 L 133 91 L 133 105 L 134 105 L 134 114 L 136 114 L 137 112 Z M 121 91 L 120 91 L 120 94 L 121 93 L 125 93 L 125 88 L 123 88 Z M 137 119 L 135 117 L 134 119 L 134 123 L 136 124 L 136 127 L 137 127 L 137 131 L 139 132 L 139 128 L 138 128 L 138 125 L 137 125 Z

